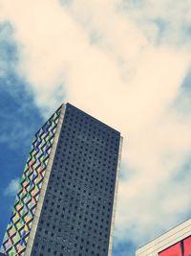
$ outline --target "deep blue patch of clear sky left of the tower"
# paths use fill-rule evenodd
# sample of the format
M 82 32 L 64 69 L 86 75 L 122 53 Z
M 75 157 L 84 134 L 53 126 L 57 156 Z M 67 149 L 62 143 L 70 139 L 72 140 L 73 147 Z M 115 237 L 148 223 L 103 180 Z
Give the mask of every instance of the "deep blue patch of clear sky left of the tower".
M 42 124 L 43 119 L 34 105 L 32 95 L 26 90 L 26 81 L 16 73 L 17 45 L 13 39 L 11 25 L 0 25 L 0 162 L 1 162 L 1 206 L 0 237 L 3 239 L 5 228 L 10 219 L 11 206 L 19 177 L 31 149 L 32 135 Z

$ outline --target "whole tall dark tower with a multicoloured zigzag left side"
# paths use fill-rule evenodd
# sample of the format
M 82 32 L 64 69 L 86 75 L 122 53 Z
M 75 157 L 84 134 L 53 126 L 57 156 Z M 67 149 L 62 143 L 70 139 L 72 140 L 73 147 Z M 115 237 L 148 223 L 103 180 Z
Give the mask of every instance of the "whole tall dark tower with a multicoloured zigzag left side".
M 1 252 L 111 255 L 121 142 L 116 129 L 61 105 L 35 134 Z

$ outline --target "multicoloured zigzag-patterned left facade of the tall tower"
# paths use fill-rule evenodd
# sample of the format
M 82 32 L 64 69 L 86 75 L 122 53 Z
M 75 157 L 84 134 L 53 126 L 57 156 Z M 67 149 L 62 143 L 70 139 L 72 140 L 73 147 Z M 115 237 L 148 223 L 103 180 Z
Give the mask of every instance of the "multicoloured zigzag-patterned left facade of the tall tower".
M 45 125 L 36 132 L 32 142 L 32 150 L 21 178 L 19 192 L 11 213 L 11 220 L 1 247 L 1 252 L 7 255 L 24 255 L 26 250 L 60 111 L 61 106 Z

